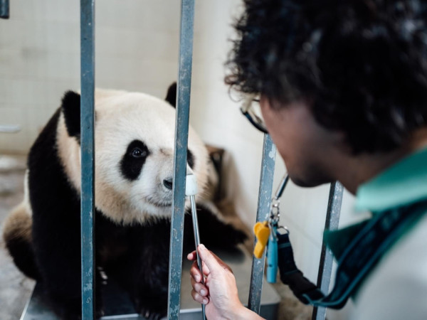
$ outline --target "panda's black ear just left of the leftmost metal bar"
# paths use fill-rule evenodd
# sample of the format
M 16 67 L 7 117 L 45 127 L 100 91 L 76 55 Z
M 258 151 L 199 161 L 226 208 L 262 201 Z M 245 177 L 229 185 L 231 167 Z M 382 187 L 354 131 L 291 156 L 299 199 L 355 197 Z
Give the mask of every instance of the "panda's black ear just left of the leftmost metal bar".
M 80 138 L 80 95 L 73 91 L 65 92 L 61 109 L 68 135 Z

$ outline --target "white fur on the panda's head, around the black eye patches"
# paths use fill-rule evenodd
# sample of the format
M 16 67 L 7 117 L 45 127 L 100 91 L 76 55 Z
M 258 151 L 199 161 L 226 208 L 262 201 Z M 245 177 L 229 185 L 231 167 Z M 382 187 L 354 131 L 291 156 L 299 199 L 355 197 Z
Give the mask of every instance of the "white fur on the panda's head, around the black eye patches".
M 171 215 L 172 191 L 164 188 L 162 181 L 174 174 L 174 108 L 144 93 L 102 90 L 95 95 L 95 112 L 97 209 L 123 224 Z M 70 183 L 80 192 L 80 145 L 68 136 L 63 117 L 61 114 L 58 123 L 58 151 Z M 150 155 L 139 178 L 128 181 L 117 164 L 127 144 L 135 139 L 147 145 Z M 191 127 L 188 143 L 195 158 L 193 171 L 203 191 L 208 176 L 208 154 Z

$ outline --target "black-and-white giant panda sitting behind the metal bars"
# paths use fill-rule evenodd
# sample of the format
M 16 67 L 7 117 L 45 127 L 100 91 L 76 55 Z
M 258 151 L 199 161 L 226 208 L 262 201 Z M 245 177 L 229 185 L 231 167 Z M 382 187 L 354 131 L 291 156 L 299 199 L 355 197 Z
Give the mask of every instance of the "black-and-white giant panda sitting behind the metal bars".
M 149 319 L 167 311 L 175 110 L 167 100 L 116 90 L 95 91 L 96 311 L 105 274 Z M 187 168 L 199 186 L 201 241 L 234 247 L 246 235 L 203 206 L 206 147 L 191 127 Z M 25 195 L 6 220 L 14 262 L 41 282 L 60 319 L 79 319 L 80 95 L 68 91 L 28 154 Z M 187 208 L 188 210 L 188 208 Z M 184 218 L 184 252 L 194 249 Z M 107 280 L 110 281 L 110 280 Z

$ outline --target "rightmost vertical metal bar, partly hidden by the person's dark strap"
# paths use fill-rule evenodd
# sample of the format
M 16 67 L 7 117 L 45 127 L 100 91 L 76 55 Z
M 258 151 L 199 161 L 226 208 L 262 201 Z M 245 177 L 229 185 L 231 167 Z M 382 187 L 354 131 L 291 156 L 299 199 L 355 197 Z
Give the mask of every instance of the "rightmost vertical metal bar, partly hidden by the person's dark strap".
M 327 203 L 327 213 L 325 221 L 325 230 L 336 230 L 339 224 L 339 213 L 342 204 L 342 184 L 339 182 L 331 183 L 329 201 Z M 334 258 L 330 249 L 327 249 L 325 242 L 322 243 L 322 252 L 320 253 L 319 273 L 317 274 L 317 287 L 322 292 L 328 292 L 331 282 L 332 262 Z M 326 308 L 323 306 L 314 307 L 312 319 L 325 320 Z

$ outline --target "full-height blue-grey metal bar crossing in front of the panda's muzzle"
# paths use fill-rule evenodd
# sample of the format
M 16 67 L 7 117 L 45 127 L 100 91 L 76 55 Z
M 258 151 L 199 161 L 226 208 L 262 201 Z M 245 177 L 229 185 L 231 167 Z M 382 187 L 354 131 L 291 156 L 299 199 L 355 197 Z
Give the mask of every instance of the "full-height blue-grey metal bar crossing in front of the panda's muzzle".
M 179 317 L 181 299 L 182 237 L 184 230 L 186 150 L 189 135 L 191 67 L 193 58 L 194 0 L 181 1 L 179 71 L 176 94 L 174 199 L 169 252 L 169 293 L 167 319 Z

